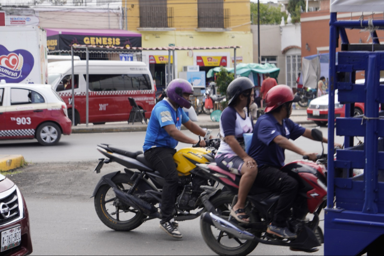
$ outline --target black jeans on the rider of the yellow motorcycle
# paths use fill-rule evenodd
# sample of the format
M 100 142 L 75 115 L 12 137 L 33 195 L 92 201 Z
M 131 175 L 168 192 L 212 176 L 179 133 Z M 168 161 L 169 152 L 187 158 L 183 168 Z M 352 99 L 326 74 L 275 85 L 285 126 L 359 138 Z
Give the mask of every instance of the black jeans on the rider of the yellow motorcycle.
M 175 197 L 179 175 L 173 155 L 176 149 L 172 148 L 151 148 L 144 152 L 144 158 L 164 178 L 164 186 L 161 194 L 161 223 L 168 222 L 173 218 L 172 212 L 175 208 Z

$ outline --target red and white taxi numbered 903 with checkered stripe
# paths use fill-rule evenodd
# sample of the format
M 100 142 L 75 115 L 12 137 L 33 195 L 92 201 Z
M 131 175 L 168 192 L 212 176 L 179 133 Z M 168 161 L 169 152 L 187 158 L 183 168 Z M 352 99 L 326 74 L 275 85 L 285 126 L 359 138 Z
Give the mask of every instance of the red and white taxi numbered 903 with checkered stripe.
M 0 82 L 0 139 L 33 139 L 55 145 L 71 134 L 63 100 L 44 84 Z

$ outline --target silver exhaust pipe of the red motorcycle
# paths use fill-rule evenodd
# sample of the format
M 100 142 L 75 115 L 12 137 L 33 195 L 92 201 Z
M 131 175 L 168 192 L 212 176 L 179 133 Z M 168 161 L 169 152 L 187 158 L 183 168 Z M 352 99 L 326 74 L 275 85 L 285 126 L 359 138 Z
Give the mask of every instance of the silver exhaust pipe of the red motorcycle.
M 212 212 L 205 212 L 202 215 L 202 220 L 208 224 L 215 226 L 217 229 L 224 231 L 228 234 L 231 234 L 239 239 L 244 240 L 255 240 L 255 235 L 244 230 L 241 227 L 235 226 L 232 223 L 214 215 Z

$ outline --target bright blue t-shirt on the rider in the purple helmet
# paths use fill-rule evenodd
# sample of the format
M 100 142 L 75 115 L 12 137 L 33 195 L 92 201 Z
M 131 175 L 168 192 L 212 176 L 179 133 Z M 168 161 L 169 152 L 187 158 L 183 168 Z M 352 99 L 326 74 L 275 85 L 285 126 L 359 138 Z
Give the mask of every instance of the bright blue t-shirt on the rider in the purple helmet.
M 172 138 L 163 127 L 175 125 L 177 130 L 180 130 L 181 124 L 187 121 L 189 121 L 189 117 L 182 108 L 175 110 L 167 100 L 157 103 L 149 118 L 143 150 L 154 147 L 175 148 L 179 142 Z

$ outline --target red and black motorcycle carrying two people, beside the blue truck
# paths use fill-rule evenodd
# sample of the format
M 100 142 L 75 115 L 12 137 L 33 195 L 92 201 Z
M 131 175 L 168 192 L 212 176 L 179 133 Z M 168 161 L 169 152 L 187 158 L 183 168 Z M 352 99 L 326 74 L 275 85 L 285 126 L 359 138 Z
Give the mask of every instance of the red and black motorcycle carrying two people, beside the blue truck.
M 313 129 L 312 136 L 321 141 L 321 131 Z M 323 232 L 318 226 L 319 214 L 326 206 L 326 162 L 327 155 L 318 155 L 316 163 L 296 160 L 281 167 L 299 182 L 298 198 L 292 213 L 300 211 L 301 216 L 313 214 L 313 219 L 296 219 L 291 215 L 288 227 L 297 233 L 294 240 L 281 239 L 266 233 L 273 218 L 279 198 L 278 193 L 253 187 L 248 194 L 246 212 L 250 223 L 239 223 L 230 215 L 231 205 L 237 200 L 240 176 L 220 169 L 216 164 L 197 164 L 207 179 L 217 181 L 218 187 L 202 186 L 205 192 L 201 201 L 205 212 L 200 219 L 200 228 L 205 243 L 220 255 L 247 255 L 258 243 L 267 245 L 292 246 L 294 248 L 313 248 L 323 243 Z

